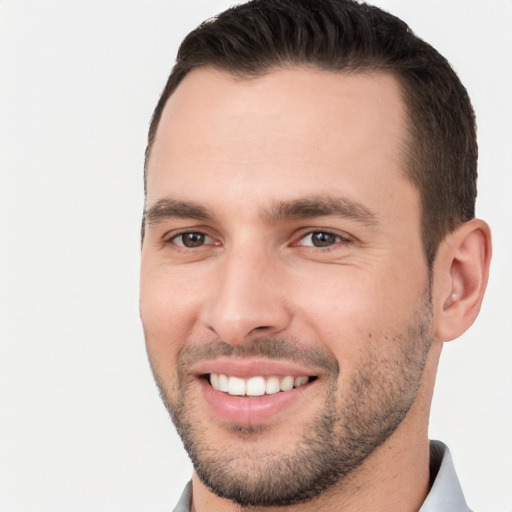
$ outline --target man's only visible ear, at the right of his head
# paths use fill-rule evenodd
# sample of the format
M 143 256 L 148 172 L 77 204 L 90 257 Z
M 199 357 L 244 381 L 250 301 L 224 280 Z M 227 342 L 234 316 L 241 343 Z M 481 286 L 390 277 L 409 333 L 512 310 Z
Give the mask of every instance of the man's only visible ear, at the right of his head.
M 465 222 L 440 244 L 434 263 L 436 336 L 450 341 L 480 311 L 491 262 L 491 230 L 480 219 Z

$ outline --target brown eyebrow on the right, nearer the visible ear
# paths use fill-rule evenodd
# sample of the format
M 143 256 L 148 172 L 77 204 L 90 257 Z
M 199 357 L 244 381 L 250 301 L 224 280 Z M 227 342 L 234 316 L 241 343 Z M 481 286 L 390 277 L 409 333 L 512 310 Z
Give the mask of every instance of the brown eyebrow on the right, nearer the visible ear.
M 377 215 L 363 204 L 344 197 L 328 195 L 279 201 L 263 214 L 264 220 L 268 223 L 327 216 L 355 220 L 369 227 L 380 224 Z

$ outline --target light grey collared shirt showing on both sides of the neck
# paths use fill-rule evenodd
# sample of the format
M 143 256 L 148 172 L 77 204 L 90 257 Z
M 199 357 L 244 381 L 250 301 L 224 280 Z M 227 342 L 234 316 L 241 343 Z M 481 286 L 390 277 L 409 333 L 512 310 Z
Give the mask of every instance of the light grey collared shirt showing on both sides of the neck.
M 448 447 L 430 441 L 432 488 L 418 512 L 471 512 L 466 504 Z M 173 512 L 190 512 L 192 482 L 189 482 Z

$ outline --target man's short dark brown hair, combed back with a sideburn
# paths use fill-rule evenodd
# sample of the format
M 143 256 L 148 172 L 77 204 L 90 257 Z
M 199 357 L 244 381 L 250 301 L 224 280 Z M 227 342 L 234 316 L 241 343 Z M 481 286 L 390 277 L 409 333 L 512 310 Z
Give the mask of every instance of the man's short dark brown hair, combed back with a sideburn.
M 421 198 L 429 268 L 447 233 L 474 217 L 477 143 L 466 89 L 448 61 L 400 19 L 354 0 L 252 0 L 192 31 L 154 111 L 146 172 L 165 103 L 191 70 L 255 77 L 280 66 L 385 72 L 400 83 L 409 118 L 406 173 Z

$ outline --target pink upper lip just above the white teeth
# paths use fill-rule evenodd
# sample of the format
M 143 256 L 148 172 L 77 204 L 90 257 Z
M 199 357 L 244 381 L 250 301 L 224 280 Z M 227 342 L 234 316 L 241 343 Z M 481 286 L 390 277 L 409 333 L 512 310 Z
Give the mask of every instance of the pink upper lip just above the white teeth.
M 313 377 L 317 376 L 311 368 L 300 366 L 293 362 L 257 358 L 219 358 L 202 361 L 192 369 L 197 376 L 218 373 L 233 377 L 249 379 L 251 377 Z

